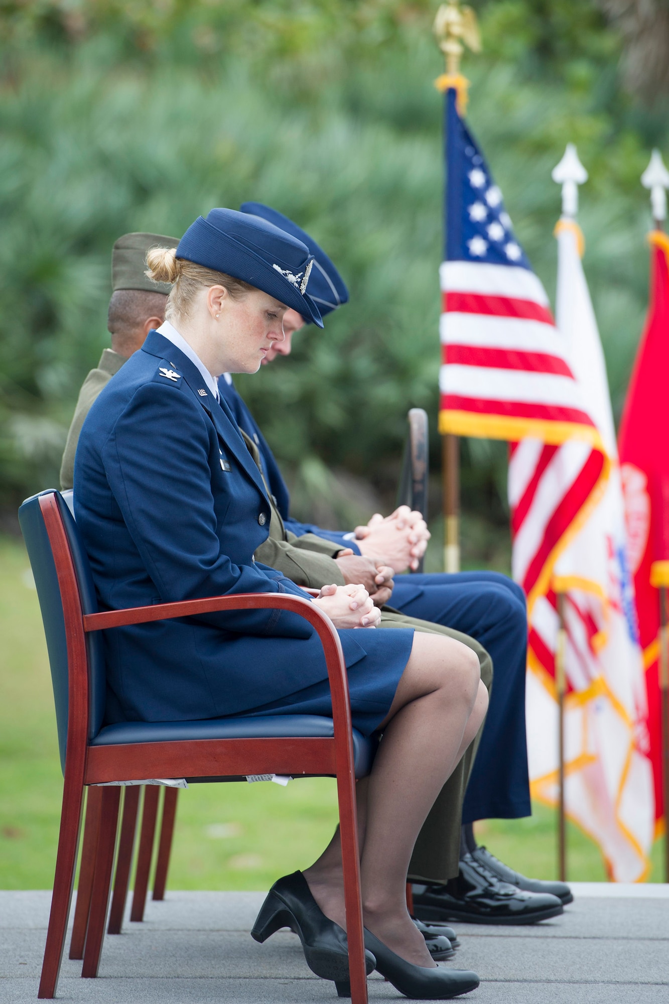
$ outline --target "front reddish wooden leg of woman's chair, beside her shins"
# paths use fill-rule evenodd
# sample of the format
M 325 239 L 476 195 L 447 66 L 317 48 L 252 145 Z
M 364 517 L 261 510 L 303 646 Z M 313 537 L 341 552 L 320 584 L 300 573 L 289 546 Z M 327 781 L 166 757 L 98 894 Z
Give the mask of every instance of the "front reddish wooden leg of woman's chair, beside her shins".
M 349 941 L 351 1001 L 352 1004 L 367 1004 L 367 968 L 365 964 L 363 904 L 360 886 L 356 778 L 353 773 L 353 767 L 346 774 L 338 770 L 337 794 L 340 804 L 340 834 L 342 838 L 344 898 L 347 912 L 347 938 Z

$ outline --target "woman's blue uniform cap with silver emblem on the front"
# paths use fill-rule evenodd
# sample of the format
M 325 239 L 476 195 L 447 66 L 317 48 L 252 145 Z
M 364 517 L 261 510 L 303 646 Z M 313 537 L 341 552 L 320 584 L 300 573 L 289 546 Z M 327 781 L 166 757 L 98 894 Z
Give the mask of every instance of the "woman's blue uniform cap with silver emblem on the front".
M 320 311 L 306 294 L 313 255 L 302 241 L 267 220 L 212 209 L 206 220 L 199 216 L 188 228 L 177 258 L 248 282 L 322 327 Z

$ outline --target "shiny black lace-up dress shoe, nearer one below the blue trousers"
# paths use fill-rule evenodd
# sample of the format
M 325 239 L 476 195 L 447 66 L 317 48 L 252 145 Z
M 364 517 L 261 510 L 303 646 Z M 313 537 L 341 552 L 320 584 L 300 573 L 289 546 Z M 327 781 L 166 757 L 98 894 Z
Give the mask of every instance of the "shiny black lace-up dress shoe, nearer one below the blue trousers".
M 446 886 L 414 886 L 414 911 L 428 922 L 535 924 L 558 917 L 563 905 L 556 896 L 525 893 L 500 882 L 471 854 L 464 854 L 457 878 Z

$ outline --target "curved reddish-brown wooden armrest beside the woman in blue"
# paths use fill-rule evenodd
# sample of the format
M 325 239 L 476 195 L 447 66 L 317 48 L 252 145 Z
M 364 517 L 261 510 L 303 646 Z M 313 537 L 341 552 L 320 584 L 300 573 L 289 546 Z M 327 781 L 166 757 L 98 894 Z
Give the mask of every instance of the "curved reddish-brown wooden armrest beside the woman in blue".
M 317 591 L 315 591 L 317 595 Z M 131 606 L 123 610 L 103 610 L 84 613 L 84 632 L 105 631 L 125 624 L 147 623 L 150 620 L 167 620 L 188 617 L 217 610 L 244 610 L 273 608 L 290 610 L 308 620 L 315 629 L 325 657 L 329 691 L 332 699 L 334 735 L 348 736 L 350 763 L 354 762 L 353 721 L 349 698 L 349 677 L 342 651 L 340 636 L 329 617 L 308 599 L 285 592 L 241 592 L 234 596 L 207 596 L 203 599 L 184 599 L 176 603 L 156 603 L 152 606 Z

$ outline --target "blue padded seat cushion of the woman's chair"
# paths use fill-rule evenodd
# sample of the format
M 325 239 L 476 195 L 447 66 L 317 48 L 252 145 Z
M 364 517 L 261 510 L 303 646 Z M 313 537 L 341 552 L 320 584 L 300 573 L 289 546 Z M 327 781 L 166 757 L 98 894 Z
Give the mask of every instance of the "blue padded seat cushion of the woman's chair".
M 271 715 L 257 718 L 208 718 L 200 722 L 118 722 L 100 729 L 91 746 L 124 743 L 181 742 L 188 739 L 328 739 L 334 735 L 331 718 L 319 715 Z M 356 777 L 372 769 L 378 739 L 353 730 Z

